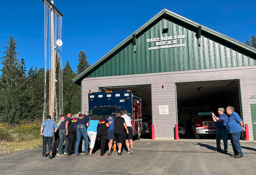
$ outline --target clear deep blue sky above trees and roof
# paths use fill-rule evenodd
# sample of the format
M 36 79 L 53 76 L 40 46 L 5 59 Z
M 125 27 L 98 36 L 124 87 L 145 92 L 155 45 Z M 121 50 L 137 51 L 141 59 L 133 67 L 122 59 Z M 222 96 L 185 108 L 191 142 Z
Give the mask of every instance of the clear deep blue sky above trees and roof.
M 44 3 L 1 2 L 0 57 L 12 36 L 26 69 L 44 67 Z M 82 50 L 90 64 L 145 24 L 163 8 L 245 43 L 256 35 L 256 1 L 67 1 L 54 0 L 63 13 L 62 57 L 74 71 Z M 1 59 L 2 61 L 2 59 Z M 0 65 L 2 67 L 2 65 Z

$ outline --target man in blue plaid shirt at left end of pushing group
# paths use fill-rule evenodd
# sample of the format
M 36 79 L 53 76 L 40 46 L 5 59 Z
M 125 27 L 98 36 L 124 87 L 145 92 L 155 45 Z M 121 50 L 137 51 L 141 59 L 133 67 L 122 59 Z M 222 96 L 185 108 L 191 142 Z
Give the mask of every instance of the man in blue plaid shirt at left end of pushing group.
M 52 148 L 52 142 L 53 142 L 53 136 L 54 133 L 58 130 L 58 126 L 55 121 L 51 120 L 51 116 L 48 115 L 46 117 L 47 120 L 43 121 L 41 124 L 41 130 L 40 135 L 43 136 L 43 158 L 46 158 L 46 144 L 48 144 L 49 149 L 49 159 L 53 156 L 53 148 Z

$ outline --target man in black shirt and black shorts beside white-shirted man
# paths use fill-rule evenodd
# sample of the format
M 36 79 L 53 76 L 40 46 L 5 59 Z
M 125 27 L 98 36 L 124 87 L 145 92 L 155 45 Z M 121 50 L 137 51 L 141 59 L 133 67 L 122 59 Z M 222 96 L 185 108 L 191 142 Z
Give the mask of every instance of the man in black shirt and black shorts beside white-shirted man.
M 117 117 L 114 120 L 114 135 L 117 140 L 117 146 L 118 146 L 118 153 L 117 156 L 121 156 L 121 148 L 122 148 L 122 143 L 124 142 L 124 128 L 126 129 L 126 133 L 128 134 L 129 131 L 127 129 L 127 126 L 125 124 L 124 118 L 122 118 L 121 113 L 117 113 Z

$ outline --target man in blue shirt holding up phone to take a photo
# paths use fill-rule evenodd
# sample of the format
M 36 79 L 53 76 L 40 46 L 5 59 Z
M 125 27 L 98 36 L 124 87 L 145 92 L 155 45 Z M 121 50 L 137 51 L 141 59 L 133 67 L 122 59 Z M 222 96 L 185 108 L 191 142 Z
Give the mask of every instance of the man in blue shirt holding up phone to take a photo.
M 221 146 L 220 146 L 220 140 L 223 140 L 224 143 L 224 152 L 228 152 L 228 130 L 227 130 L 227 122 L 229 120 L 229 117 L 224 113 L 225 109 L 224 108 L 218 108 L 218 114 L 219 117 L 216 117 L 213 112 L 212 114 L 212 119 L 213 121 L 216 122 L 216 147 L 217 149 L 215 151 L 221 151 Z

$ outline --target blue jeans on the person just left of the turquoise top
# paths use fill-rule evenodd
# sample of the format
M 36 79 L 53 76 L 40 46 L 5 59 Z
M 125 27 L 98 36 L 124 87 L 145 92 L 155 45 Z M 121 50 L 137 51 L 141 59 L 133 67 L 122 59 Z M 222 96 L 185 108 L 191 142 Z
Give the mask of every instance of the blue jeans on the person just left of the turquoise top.
M 88 136 L 85 126 L 76 126 L 76 143 L 75 143 L 75 154 L 78 154 L 78 147 L 81 136 L 84 137 L 84 151 L 88 152 Z

